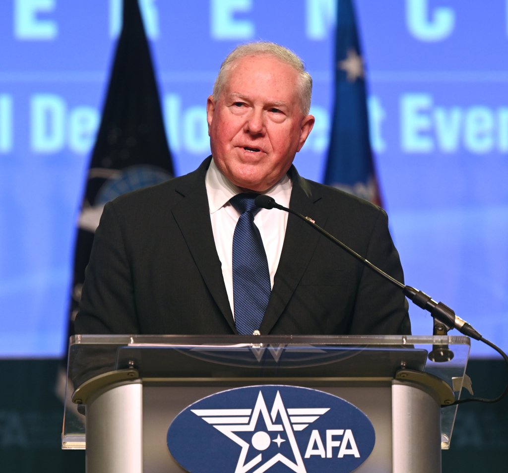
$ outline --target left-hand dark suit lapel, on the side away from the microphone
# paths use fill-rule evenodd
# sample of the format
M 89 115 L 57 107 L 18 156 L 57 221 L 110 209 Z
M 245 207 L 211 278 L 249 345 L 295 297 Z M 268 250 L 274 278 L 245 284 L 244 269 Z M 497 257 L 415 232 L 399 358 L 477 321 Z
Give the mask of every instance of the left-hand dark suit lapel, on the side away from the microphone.
M 205 175 L 209 163 L 210 158 L 205 160 L 194 173 L 190 173 L 187 179 L 182 180 L 176 191 L 184 198 L 172 212 L 203 281 L 219 310 L 236 333 L 210 223 L 205 187 Z M 192 294 L 189 294 L 189 297 L 192 297 Z

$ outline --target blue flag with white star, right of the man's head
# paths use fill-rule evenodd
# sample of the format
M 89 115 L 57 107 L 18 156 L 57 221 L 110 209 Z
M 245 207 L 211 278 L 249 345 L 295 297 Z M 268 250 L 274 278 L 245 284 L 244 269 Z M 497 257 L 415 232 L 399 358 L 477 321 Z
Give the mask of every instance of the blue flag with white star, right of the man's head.
M 372 150 L 363 59 L 352 0 L 338 0 L 335 106 L 325 184 L 381 205 Z

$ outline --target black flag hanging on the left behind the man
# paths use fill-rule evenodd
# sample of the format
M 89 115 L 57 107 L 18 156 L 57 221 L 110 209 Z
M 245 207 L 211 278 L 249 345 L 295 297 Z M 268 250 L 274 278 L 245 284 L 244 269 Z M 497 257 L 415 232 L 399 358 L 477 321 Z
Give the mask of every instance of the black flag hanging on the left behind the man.
M 157 85 L 137 0 L 123 0 L 118 39 L 101 124 L 78 220 L 69 336 L 104 205 L 118 195 L 173 176 Z

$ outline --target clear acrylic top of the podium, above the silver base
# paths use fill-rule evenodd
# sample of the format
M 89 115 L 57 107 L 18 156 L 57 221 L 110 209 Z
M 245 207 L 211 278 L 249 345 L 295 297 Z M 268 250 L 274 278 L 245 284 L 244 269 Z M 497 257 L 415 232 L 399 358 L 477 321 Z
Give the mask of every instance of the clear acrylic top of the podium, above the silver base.
M 121 370 L 134 371 L 143 383 L 192 378 L 255 384 L 261 378 L 276 384 L 316 378 L 389 383 L 405 370 L 446 383 L 453 400 L 460 396 L 469 348 L 468 337 L 448 335 L 75 335 L 68 398 L 88 380 Z M 456 407 L 442 411 L 442 447 L 448 448 Z M 64 427 L 64 444 L 69 428 L 75 430 Z M 67 448 L 83 448 L 76 434 L 67 435 L 74 439 Z

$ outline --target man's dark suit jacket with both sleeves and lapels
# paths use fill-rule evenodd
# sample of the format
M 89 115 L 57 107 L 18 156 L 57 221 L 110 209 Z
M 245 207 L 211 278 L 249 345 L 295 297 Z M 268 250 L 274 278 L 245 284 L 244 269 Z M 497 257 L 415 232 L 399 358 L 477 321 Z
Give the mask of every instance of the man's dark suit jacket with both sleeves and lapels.
M 105 206 L 76 333 L 236 333 L 210 223 L 209 162 Z M 292 209 L 402 281 L 383 210 L 303 179 L 294 167 L 290 177 Z M 290 215 L 260 331 L 396 334 L 410 327 L 400 289 Z

